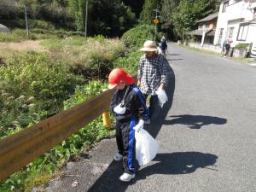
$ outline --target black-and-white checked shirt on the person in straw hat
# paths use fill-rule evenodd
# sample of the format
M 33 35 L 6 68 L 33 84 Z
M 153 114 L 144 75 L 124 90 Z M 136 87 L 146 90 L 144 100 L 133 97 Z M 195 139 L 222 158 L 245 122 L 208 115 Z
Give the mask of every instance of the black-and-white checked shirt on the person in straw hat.
M 168 61 L 163 55 L 155 55 L 150 59 L 146 55 L 141 57 L 137 79 L 141 82 L 143 94 L 154 96 L 160 84 L 166 84 L 166 65 Z

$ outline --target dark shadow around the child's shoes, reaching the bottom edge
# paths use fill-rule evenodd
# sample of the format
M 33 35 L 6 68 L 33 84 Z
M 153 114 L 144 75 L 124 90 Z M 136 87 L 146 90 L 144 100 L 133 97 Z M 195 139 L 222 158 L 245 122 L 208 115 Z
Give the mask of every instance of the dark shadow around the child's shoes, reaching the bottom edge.
M 112 162 L 108 169 L 102 174 L 96 183 L 88 190 L 90 192 L 125 192 L 129 185 L 136 183 L 138 180 L 154 174 L 188 174 L 195 172 L 197 168 L 207 168 L 212 171 L 215 169 L 214 164 L 218 156 L 215 154 L 203 154 L 201 152 L 178 152 L 172 154 L 157 154 L 152 166 L 147 166 L 137 172 L 137 176 L 130 183 L 119 181 L 122 174 L 121 163 Z M 153 161 L 153 162 L 154 162 Z M 214 166 L 214 167 L 207 167 Z

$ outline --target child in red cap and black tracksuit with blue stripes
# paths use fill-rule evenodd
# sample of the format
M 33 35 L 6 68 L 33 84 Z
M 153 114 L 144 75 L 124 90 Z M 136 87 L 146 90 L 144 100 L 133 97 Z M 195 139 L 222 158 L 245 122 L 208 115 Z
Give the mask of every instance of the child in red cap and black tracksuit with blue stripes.
M 119 180 L 131 181 L 135 177 L 135 130 L 143 128 L 148 119 L 148 108 L 135 80 L 121 68 L 113 69 L 108 76 L 108 89 L 115 88 L 110 110 L 116 119 L 116 142 L 118 153 L 113 160 L 123 160 L 124 174 Z

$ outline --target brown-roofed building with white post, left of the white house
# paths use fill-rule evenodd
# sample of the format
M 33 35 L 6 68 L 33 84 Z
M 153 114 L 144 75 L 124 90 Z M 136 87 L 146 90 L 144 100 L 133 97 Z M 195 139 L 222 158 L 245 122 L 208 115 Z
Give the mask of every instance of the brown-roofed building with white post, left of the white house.
M 203 44 L 213 44 L 215 29 L 217 26 L 218 13 L 208 15 L 207 17 L 198 20 L 198 29 L 189 32 L 190 35 L 194 35 L 197 42 Z

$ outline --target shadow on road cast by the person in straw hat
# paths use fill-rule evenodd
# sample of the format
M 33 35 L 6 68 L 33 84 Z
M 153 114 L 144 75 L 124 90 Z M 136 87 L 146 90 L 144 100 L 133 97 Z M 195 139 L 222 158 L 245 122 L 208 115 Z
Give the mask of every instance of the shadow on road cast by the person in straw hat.
M 164 125 L 182 124 L 189 125 L 190 129 L 201 129 L 201 127 L 205 125 L 224 125 L 225 123 L 227 123 L 227 119 L 204 115 L 182 114 L 172 115 L 170 117 L 175 119 L 166 119 Z

